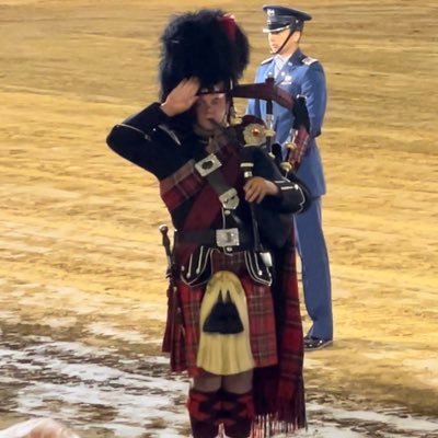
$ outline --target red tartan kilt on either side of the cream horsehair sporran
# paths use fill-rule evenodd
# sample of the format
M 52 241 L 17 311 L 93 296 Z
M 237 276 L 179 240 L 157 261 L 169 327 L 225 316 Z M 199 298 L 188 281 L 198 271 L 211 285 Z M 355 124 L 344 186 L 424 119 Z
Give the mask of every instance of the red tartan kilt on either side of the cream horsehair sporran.
M 276 365 L 277 341 L 274 304 L 270 287 L 256 284 L 246 273 L 240 275 L 246 296 L 250 320 L 250 344 L 255 368 Z M 206 285 L 199 287 L 177 283 L 180 306 L 183 315 L 183 336 L 180 339 L 183 351 L 171 350 L 171 371 L 187 371 L 189 377 L 196 377 L 204 371 L 196 366 L 199 345 L 199 313 Z

